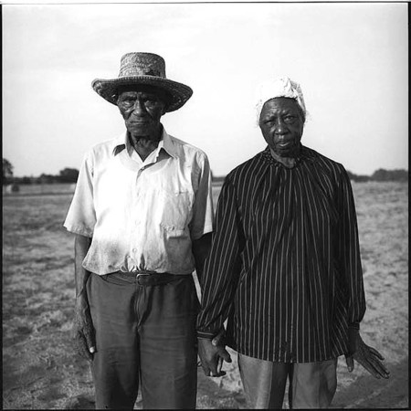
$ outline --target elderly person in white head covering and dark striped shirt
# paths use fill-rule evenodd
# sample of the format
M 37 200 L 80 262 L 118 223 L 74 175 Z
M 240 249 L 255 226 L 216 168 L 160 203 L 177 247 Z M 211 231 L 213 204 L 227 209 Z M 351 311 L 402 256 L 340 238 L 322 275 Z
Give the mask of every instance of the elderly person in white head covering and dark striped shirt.
M 227 175 L 202 282 L 197 321 L 205 374 L 219 376 L 227 345 L 249 406 L 326 408 L 338 356 L 375 377 L 383 357 L 359 334 L 365 299 L 353 193 L 342 164 L 301 145 L 306 109 L 288 78 L 258 91 L 268 147 Z

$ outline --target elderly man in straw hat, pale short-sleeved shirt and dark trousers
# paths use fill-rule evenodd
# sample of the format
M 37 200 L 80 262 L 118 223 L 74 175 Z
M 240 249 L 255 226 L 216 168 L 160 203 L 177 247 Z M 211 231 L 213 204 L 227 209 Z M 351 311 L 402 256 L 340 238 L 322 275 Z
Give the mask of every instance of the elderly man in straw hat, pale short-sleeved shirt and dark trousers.
M 213 226 L 205 153 L 165 132 L 192 90 L 163 58 L 129 53 L 92 87 L 126 131 L 86 153 L 65 227 L 75 237 L 76 339 L 96 408 L 194 408 L 201 275 Z

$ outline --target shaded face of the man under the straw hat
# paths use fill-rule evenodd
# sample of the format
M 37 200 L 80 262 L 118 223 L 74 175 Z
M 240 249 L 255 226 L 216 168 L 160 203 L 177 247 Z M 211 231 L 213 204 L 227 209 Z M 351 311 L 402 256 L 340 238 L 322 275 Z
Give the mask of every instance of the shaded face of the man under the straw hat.
M 117 105 L 128 132 L 136 137 L 157 137 L 166 106 L 166 95 L 161 90 L 124 86 L 119 90 Z

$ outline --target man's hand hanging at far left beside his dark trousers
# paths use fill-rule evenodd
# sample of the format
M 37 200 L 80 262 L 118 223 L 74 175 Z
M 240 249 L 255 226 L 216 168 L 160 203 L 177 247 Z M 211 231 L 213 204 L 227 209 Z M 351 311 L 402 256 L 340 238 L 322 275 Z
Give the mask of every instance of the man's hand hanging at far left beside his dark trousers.
M 76 350 L 82 357 L 91 361 L 93 353 L 96 352 L 96 342 L 87 300 L 81 297 L 77 298 L 75 311 L 73 339 Z

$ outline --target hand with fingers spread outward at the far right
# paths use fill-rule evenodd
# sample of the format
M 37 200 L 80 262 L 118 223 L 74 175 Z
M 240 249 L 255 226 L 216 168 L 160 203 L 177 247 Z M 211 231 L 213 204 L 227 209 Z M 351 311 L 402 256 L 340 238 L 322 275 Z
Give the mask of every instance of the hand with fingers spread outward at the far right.
M 368 346 L 361 338 L 358 330 L 349 329 L 349 353 L 345 355 L 348 371 L 351 373 L 355 360 L 375 378 L 389 378 L 390 372 L 381 363 L 384 361 L 383 355 L 378 353 L 373 347 Z

